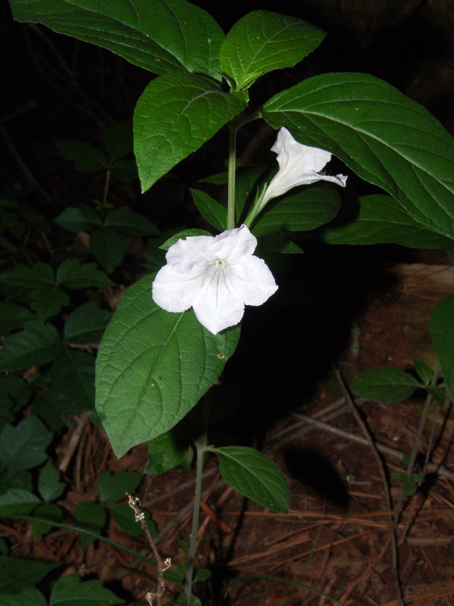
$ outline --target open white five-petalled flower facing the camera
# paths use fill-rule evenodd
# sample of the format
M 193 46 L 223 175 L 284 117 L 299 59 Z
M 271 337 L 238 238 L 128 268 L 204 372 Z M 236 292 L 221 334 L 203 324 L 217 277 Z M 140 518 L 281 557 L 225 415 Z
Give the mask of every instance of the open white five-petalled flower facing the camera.
M 166 311 L 192 307 L 213 335 L 238 324 L 245 305 L 262 305 L 277 290 L 265 261 L 252 255 L 256 246 L 246 225 L 177 241 L 154 279 L 154 302 Z

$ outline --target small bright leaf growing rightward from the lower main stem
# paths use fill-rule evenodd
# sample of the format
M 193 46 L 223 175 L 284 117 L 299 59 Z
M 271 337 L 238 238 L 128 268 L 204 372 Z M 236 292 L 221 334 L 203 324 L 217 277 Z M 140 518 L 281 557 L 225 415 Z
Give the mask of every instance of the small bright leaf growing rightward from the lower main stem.
M 284 474 L 274 461 L 254 448 L 226 446 L 207 448 L 217 454 L 226 484 L 271 511 L 287 513 L 290 492 Z

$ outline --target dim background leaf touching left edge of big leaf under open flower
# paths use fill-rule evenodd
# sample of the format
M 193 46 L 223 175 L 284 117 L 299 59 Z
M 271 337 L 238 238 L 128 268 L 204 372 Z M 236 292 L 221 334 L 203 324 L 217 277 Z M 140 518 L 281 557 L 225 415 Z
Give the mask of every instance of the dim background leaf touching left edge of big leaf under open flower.
M 52 387 L 71 405 L 71 412 L 94 405 L 94 356 L 65 347 L 50 369 Z

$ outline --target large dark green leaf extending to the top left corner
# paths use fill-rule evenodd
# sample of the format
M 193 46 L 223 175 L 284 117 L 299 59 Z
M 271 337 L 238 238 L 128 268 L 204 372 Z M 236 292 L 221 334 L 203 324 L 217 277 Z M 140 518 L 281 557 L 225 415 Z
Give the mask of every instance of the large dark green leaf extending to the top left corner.
M 185 0 L 10 0 L 18 21 L 32 21 L 108 48 L 163 74 L 188 70 L 220 79 L 224 35 L 211 15 Z

